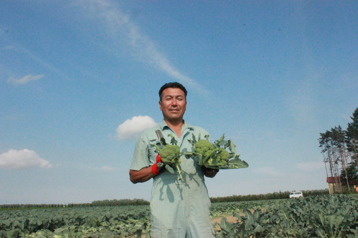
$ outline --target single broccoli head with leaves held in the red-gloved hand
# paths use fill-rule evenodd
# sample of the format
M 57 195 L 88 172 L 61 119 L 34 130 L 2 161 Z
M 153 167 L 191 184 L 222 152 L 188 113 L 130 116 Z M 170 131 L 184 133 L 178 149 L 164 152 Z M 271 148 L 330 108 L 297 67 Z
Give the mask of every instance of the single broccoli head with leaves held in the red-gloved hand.
M 155 143 L 153 144 L 156 148 L 156 153 L 160 155 L 161 161 L 163 161 L 163 163 L 158 163 L 158 167 L 165 165 L 165 168 L 171 173 L 174 173 L 173 167 L 175 167 L 179 172 L 179 180 L 181 180 L 183 177 L 179 165 L 181 162 L 180 156 L 183 154 L 180 152 L 180 148 L 177 144 L 178 142 L 175 140 L 174 136 L 172 134 L 169 134 L 169 136 L 171 137 L 171 145 L 167 144 L 164 138 L 161 140 L 164 145 L 163 148 L 160 149 Z

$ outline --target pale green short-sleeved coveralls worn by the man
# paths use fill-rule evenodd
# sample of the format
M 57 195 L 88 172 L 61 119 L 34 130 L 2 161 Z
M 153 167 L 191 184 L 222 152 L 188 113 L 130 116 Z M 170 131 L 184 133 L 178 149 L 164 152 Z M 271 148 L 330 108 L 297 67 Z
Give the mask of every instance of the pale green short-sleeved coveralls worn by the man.
M 158 126 L 141 133 L 137 139 L 130 169 L 139 171 L 156 162 L 155 147 L 160 142 L 156 130 L 161 130 L 167 143 L 172 134 L 178 141 L 180 151 L 187 148 L 193 151 L 188 139 L 201 138 L 209 135 L 203 128 L 189 125 L 184 121 L 180 138 L 163 120 Z M 168 172 L 165 167 L 154 177 L 150 199 L 151 234 L 154 238 L 213 238 L 214 229 L 210 221 L 210 199 L 204 183 L 201 166 L 192 158 L 181 158 L 180 169 L 183 171 L 183 181 L 179 173 Z

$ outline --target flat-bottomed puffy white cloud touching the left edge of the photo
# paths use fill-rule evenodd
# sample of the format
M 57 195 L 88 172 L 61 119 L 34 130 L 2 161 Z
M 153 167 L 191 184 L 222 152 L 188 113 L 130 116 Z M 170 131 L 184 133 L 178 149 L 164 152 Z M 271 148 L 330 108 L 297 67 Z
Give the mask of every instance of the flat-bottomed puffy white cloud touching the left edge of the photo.
M 9 169 L 19 168 L 52 168 L 49 161 L 40 158 L 40 156 L 33 150 L 9 150 L 0 155 L 0 167 Z

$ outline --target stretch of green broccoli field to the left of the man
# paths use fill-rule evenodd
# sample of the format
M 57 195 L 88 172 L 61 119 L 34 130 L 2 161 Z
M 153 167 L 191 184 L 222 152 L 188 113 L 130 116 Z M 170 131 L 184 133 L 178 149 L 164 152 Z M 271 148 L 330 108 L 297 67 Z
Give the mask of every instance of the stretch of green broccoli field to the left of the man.
M 149 237 L 149 216 L 149 206 L 0 211 L 0 238 Z

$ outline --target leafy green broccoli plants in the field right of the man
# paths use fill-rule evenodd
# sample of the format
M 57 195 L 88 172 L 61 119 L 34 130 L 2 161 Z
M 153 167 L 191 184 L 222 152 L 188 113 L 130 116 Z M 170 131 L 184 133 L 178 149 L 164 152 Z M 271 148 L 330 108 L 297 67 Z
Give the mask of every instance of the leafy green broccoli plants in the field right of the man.
M 267 204 L 266 204 L 267 203 Z M 347 195 L 321 195 L 301 199 L 262 201 L 254 203 L 224 203 L 239 220 L 232 226 L 220 223 L 221 237 L 321 237 L 353 238 L 358 227 L 358 198 Z M 256 204 L 257 205 L 257 204 Z M 257 206 L 256 206 L 257 207 Z M 230 208 L 229 208 L 230 209 Z

